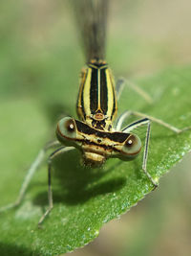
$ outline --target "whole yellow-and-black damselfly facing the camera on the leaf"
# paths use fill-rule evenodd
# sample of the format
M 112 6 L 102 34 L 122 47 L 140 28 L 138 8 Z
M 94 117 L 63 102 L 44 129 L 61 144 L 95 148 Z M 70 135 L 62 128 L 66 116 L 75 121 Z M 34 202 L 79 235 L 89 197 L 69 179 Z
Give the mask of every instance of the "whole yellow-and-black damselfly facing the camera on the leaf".
M 188 129 L 175 128 L 157 118 L 130 110 L 125 111 L 115 123 L 121 81 L 118 81 L 115 87 L 112 71 L 105 61 L 107 9 L 107 0 L 74 1 L 75 16 L 87 59 L 87 67 L 81 73 L 76 102 L 79 120 L 64 117 L 58 122 L 56 128 L 57 139 L 47 144 L 38 153 L 28 171 L 17 200 L 2 207 L 1 212 L 20 204 L 32 175 L 43 161 L 46 151 L 54 149 L 48 159 L 49 207 L 38 222 L 40 225 L 53 208 L 51 174 L 53 158 L 57 154 L 77 149 L 81 151 L 83 164 L 93 168 L 100 167 L 108 158 L 112 157 L 127 161 L 133 160 L 141 151 L 141 141 L 133 131 L 141 126 L 147 126 L 142 170 L 156 188 L 158 186 L 157 181 L 147 171 L 151 122 L 156 122 L 176 133 Z M 140 92 L 140 94 L 143 95 L 143 92 Z M 131 115 L 137 116 L 138 121 L 122 128 L 124 121 Z

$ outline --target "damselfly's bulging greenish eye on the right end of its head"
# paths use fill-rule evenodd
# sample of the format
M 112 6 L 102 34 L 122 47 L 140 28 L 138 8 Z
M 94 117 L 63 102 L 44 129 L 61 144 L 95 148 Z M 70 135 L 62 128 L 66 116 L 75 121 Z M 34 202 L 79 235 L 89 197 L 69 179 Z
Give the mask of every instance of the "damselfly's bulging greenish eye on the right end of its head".
M 122 152 L 127 156 L 134 157 L 138 155 L 141 149 L 141 142 L 137 135 L 131 134 L 125 141 Z

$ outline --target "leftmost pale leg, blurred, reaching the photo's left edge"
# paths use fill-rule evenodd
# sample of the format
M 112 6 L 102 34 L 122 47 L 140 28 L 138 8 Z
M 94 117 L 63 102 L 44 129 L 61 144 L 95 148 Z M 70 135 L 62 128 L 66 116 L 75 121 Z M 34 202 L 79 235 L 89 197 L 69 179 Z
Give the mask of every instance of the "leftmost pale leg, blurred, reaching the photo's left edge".
M 20 188 L 20 192 L 19 192 L 19 195 L 18 195 L 17 199 L 14 202 L 12 202 L 12 203 L 10 203 L 6 206 L 1 207 L 0 212 L 4 212 L 4 211 L 7 211 L 7 210 L 9 210 L 13 207 L 16 207 L 22 202 L 22 200 L 25 196 L 25 193 L 26 193 L 26 191 L 29 187 L 29 184 L 32 180 L 32 176 L 35 174 L 36 170 L 38 169 L 38 167 L 40 166 L 40 164 L 42 163 L 42 161 L 45 158 L 46 151 L 48 151 L 52 148 L 58 147 L 59 145 L 60 145 L 60 143 L 58 141 L 49 142 L 48 144 L 46 144 L 46 146 L 41 151 L 39 151 L 35 160 L 32 162 L 32 165 L 29 168 L 29 170 L 27 172 L 27 175 L 25 176 L 25 179 L 24 179 L 23 184 Z

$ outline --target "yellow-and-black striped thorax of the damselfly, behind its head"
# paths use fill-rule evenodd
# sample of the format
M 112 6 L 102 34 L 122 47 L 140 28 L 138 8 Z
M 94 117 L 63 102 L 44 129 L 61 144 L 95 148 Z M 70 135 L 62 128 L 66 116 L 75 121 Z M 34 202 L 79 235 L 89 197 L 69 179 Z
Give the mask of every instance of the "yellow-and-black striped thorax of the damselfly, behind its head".
M 91 60 L 81 73 L 77 99 L 80 120 L 93 128 L 111 130 L 117 114 L 115 82 L 103 60 Z

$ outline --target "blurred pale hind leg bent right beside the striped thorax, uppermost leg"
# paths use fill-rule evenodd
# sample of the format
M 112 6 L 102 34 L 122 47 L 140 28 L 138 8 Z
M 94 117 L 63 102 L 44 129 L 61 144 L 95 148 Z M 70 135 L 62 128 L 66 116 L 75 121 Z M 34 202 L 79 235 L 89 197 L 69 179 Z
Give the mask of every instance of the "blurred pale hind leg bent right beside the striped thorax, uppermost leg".
M 142 88 L 132 81 L 127 81 L 124 78 L 117 80 L 116 92 L 117 92 L 117 101 L 120 98 L 120 95 L 124 89 L 124 85 L 127 85 L 129 88 L 133 89 L 139 96 L 141 96 L 147 103 L 152 104 L 153 100 L 148 93 L 146 93 Z

